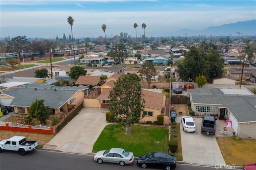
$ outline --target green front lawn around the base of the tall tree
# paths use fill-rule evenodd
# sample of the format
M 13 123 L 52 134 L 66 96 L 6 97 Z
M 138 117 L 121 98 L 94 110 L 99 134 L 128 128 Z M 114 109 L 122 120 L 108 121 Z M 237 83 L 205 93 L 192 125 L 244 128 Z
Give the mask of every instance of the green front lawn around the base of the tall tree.
M 168 129 L 163 127 L 130 127 L 131 134 L 126 135 L 126 127 L 119 124 L 107 125 L 95 142 L 92 152 L 109 148 L 124 148 L 140 156 L 149 152 L 168 153 Z

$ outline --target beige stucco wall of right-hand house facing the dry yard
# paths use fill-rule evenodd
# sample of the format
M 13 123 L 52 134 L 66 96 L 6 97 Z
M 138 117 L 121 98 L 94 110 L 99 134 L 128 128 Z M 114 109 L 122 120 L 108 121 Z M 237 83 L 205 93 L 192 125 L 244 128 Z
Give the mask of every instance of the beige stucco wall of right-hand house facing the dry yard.
M 256 139 L 256 122 L 239 123 L 238 137 Z

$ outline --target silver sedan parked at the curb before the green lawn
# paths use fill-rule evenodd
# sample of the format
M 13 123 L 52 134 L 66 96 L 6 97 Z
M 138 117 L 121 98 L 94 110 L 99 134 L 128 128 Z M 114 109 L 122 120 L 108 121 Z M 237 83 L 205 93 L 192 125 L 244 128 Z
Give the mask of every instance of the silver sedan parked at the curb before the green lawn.
M 122 148 L 111 148 L 109 150 L 101 150 L 97 152 L 93 159 L 99 164 L 102 162 L 110 162 L 124 166 L 125 164 L 132 164 L 134 155 L 132 152 Z

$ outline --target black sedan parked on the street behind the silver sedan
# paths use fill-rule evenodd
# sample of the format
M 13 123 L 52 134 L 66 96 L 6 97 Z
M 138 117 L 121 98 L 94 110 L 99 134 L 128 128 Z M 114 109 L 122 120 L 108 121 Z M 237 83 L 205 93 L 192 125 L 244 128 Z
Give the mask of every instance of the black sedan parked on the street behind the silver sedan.
M 176 157 L 162 152 L 151 152 L 139 156 L 137 164 L 142 168 L 150 167 L 170 170 L 176 168 Z

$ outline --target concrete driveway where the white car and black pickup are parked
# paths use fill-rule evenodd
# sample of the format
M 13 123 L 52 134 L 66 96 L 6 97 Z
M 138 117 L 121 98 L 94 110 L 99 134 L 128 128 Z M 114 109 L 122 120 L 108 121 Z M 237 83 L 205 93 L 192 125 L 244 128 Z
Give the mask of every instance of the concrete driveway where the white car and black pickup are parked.
M 184 132 L 181 117 L 176 118 L 176 122 L 180 123 L 183 161 L 214 166 L 216 164 L 225 164 L 215 136 L 201 134 L 202 118 L 194 118 L 194 121 L 196 123 L 196 132 Z

